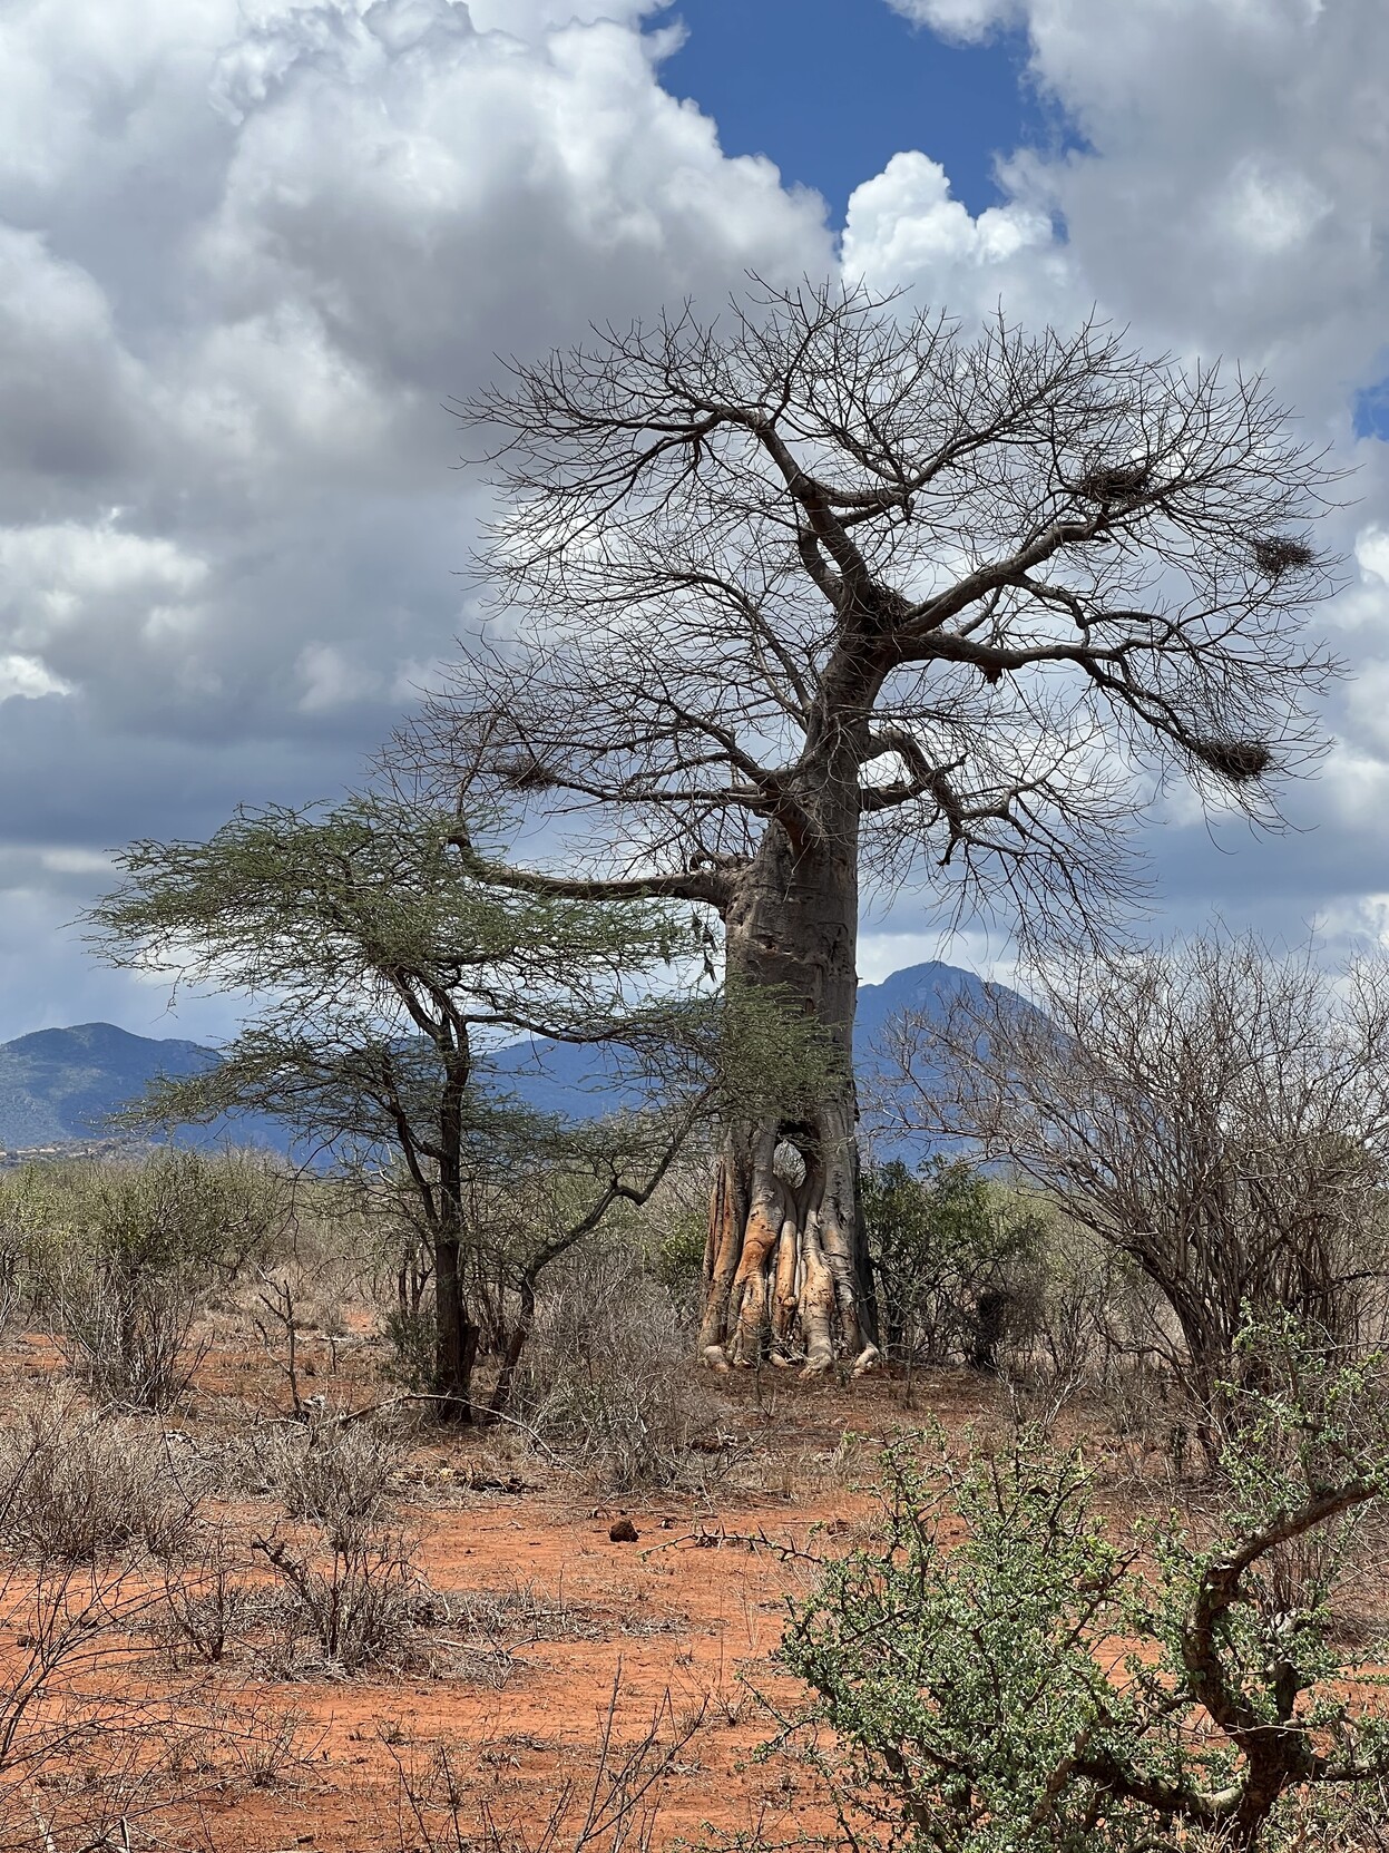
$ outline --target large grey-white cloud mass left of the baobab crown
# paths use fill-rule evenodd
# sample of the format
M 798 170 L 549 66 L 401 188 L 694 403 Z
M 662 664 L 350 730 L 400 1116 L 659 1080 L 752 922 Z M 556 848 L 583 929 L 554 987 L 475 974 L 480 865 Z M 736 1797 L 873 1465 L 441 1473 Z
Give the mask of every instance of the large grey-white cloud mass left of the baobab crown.
M 148 1002 L 56 934 L 83 852 L 357 780 L 472 628 L 444 402 L 496 352 L 832 265 L 817 202 L 659 89 L 646 11 L 6 11 L 0 1034 Z

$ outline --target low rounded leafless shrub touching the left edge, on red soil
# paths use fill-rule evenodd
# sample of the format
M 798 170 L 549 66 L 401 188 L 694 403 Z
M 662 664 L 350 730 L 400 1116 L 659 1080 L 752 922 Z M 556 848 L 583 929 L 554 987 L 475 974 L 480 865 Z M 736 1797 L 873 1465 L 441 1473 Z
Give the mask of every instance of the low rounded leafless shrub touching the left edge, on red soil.
M 102 1421 L 57 1397 L 0 1431 L 0 1538 L 41 1562 L 106 1562 L 130 1549 L 174 1557 L 193 1536 L 202 1473 L 176 1462 L 152 1423 Z

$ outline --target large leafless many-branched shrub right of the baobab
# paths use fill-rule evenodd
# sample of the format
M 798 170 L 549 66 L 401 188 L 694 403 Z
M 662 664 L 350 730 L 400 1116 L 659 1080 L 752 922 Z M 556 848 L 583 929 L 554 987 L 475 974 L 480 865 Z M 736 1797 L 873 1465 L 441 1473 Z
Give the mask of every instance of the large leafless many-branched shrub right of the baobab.
M 1035 990 L 904 1021 L 889 1110 L 1011 1160 L 1152 1282 L 1146 1342 L 1213 1456 L 1228 1386 L 1261 1368 L 1237 1356 L 1250 1319 L 1380 1336 L 1389 965 L 1337 977 L 1217 934 L 1074 954 Z

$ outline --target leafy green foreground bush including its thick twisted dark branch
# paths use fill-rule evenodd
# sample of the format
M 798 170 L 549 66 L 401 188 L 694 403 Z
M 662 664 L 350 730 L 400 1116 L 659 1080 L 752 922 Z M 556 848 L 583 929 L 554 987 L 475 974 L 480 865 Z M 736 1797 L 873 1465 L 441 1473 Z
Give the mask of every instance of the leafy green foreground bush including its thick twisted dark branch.
M 811 1731 L 856 1842 L 1276 1847 L 1306 1792 L 1333 1823 L 1383 1781 L 1374 1679 L 1328 1621 L 1348 1516 L 1389 1486 L 1382 1366 L 1274 1353 L 1213 1540 L 1115 1542 L 1078 1453 L 887 1451 L 882 1540 L 826 1566 L 782 1645 L 815 1694 L 783 1738 Z

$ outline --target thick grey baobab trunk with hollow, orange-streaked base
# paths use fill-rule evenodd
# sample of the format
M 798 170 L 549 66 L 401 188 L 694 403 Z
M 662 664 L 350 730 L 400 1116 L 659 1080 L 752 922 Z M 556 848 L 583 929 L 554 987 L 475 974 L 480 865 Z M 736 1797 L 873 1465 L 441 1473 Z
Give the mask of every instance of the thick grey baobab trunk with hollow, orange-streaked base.
M 730 982 L 804 1010 L 830 1062 L 796 1117 L 726 1132 L 704 1254 L 700 1347 L 715 1369 L 878 1356 L 854 1095 L 857 791 L 835 825 L 800 852 L 769 828 L 724 921 Z

